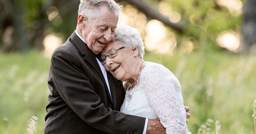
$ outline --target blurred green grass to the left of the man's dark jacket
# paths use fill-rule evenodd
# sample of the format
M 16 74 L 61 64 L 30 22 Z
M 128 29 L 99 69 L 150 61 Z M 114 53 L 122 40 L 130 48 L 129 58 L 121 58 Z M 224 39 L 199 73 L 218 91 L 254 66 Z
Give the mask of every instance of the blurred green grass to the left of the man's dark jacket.
M 0 58 L 0 133 L 25 134 L 31 116 L 44 128 L 48 103 L 49 59 L 41 53 L 7 54 Z

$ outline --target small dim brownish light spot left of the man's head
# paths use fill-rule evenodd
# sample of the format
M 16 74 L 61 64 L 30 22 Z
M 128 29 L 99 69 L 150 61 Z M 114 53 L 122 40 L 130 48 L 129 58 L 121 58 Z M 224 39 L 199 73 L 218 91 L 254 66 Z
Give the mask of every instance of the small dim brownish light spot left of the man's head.
M 62 19 L 60 17 L 58 8 L 56 8 L 54 6 L 49 7 L 46 10 L 46 14 L 48 15 L 48 20 L 51 21 L 53 25 L 57 26 L 62 23 Z

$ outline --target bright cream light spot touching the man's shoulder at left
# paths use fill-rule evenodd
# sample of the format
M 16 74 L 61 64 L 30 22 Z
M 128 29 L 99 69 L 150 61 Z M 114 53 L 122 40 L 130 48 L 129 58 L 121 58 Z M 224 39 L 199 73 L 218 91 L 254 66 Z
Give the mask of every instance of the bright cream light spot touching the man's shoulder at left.
M 59 36 L 56 36 L 54 33 L 49 34 L 44 38 L 44 56 L 45 58 L 50 58 L 53 51 L 62 44 L 62 40 Z

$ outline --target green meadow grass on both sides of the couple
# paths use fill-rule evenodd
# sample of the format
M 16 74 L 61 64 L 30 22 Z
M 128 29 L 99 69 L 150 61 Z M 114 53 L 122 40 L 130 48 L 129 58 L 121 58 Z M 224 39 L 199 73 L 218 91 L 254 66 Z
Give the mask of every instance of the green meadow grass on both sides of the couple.
M 207 119 L 212 119 L 206 124 L 210 134 L 215 134 L 217 120 L 220 134 L 255 134 L 252 103 L 256 98 L 256 55 L 146 52 L 144 60 L 163 64 L 180 80 L 184 105 L 191 109 L 188 128 L 192 134 Z M 39 118 L 37 133 L 43 133 L 49 61 L 35 50 L 0 55 L 0 134 L 28 133 L 31 116 Z

